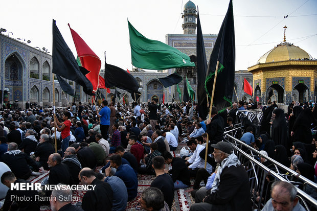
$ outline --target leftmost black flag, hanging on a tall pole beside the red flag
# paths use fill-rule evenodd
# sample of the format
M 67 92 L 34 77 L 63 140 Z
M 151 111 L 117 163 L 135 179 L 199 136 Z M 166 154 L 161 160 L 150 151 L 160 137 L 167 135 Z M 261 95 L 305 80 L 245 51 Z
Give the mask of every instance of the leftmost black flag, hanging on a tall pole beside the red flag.
M 53 19 L 53 69 L 52 72 L 65 79 L 75 81 L 87 95 L 93 94 L 93 84 L 80 72 L 76 59 L 66 44 Z

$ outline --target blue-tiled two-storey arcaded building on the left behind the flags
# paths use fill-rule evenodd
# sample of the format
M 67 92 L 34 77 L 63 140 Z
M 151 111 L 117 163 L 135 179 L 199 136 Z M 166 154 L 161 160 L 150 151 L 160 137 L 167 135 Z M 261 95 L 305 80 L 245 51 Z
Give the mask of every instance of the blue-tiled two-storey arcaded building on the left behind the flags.
M 27 44 L 30 41 L 20 40 L 0 33 L 0 102 L 16 102 L 20 108 L 24 108 L 26 102 L 43 107 L 52 105 L 52 56 L 45 48 L 36 49 Z M 75 88 L 73 82 L 69 83 Z M 72 102 L 72 97 L 64 94 L 57 80 L 54 85 L 56 106 Z

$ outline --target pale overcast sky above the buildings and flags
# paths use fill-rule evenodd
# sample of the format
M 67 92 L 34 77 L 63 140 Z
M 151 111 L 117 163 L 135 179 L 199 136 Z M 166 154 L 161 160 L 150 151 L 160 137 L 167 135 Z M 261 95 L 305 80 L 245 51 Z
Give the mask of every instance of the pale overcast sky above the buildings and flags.
M 183 34 L 188 0 L 16 0 L 3 1 L 0 27 L 12 38 L 31 40 L 30 46 L 52 54 L 52 19 L 77 57 L 69 23 L 108 64 L 131 70 L 127 18 L 141 34 L 165 43 L 167 34 Z M 203 34 L 218 34 L 229 0 L 193 0 L 199 8 Z M 236 71 L 246 70 L 284 37 L 317 58 L 317 0 L 233 0 Z M 287 18 L 284 16 L 288 15 Z M 210 57 L 210 55 L 206 55 Z

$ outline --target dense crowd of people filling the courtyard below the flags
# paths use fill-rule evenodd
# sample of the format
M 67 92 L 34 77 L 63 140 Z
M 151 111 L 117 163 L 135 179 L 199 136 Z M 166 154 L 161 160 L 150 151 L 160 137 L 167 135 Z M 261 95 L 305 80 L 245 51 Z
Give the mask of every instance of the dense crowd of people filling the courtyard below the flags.
M 248 109 L 263 110 L 260 134 L 256 135 L 252 123 L 245 121 L 240 139 L 316 181 L 317 143 L 311 129 L 317 120 L 317 110 L 311 102 L 292 102 L 284 112 L 275 102 L 262 106 L 252 100 L 239 101 L 221 112 L 212 107 L 210 119 L 201 118 L 198 105 L 193 102 L 158 104 L 148 100 L 142 104 L 111 102 L 108 105 L 104 100 L 100 107 L 79 102 L 58 109 L 55 114 L 51 109 L 29 103 L 26 106 L 24 110 L 5 109 L 1 115 L 3 210 L 14 210 L 18 206 L 38 210 L 40 203 L 17 203 L 10 196 L 39 193 L 13 193 L 8 187 L 12 182 L 27 182 L 30 176 L 46 171 L 50 171 L 48 184 L 94 184 L 97 187 L 85 193 L 81 207 L 71 205 L 70 200 L 51 197 L 47 203 L 52 210 L 125 210 L 127 202 L 138 195 L 138 174 L 155 175 L 151 187 L 139 199 L 140 208 L 145 210 L 170 210 L 176 189 L 186 189 L 195 198 L 191 210 L 251 210 L 245 168 L 232 145 L 222 142 L 223 132 L 236 124 L 236 115 Z M 187 149 L 182 149 L 177 157 L 173 152 L 179 146 Z M 260 161 L 270 165 L 264 158 Z M 194 179 L 192 187 L 190 179 Z M 301 188 L 317 199 L 312 187 Z M 304 210 L 295 191 L 291 184 L 279 181 L 271 185 L 271 199 L 258 200 L 265 204 L 263 210 L 285 204 L 289 206 L 285 210 Z M 66 197 L 72 192 L 42 194 Z

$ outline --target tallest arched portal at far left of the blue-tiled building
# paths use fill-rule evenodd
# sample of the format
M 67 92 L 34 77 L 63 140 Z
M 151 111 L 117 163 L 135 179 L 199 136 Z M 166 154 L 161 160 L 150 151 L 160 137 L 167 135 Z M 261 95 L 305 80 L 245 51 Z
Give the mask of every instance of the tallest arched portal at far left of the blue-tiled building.
M 8 91 L 8 101 L 22 101 L 22 78 L 24 67 L 16 54 L 5 61 L 5 88 Z

